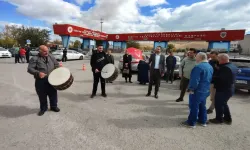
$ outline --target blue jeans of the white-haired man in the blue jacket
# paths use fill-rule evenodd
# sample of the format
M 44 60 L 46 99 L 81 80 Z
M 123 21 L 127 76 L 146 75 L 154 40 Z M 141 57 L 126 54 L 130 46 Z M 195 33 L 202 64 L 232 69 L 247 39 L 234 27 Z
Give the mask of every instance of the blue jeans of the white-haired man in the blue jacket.
M 189 94 L 189 109 L 188 124 L 195 126 L 197 119 L 201 124 L 207 122 L 206 99 L 209 93 L 194 93 Z

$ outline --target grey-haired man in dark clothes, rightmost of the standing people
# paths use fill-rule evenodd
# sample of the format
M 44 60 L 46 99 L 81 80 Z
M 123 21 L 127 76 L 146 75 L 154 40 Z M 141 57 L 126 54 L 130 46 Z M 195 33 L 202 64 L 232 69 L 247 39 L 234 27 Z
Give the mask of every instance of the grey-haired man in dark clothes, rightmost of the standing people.
M 214 124 L 221 124 L 224 122 L 231 125 L 232 118 L 227 102 L 234 94 L 235 77 L 238 69 L 235 65 L 229 62 L 229 56 L 225 53 L 218 55 L 218 61 L 219 70 L 214 81 L 214 87 L 216 89 L 216 118 L 210 119 L 209 121 Z

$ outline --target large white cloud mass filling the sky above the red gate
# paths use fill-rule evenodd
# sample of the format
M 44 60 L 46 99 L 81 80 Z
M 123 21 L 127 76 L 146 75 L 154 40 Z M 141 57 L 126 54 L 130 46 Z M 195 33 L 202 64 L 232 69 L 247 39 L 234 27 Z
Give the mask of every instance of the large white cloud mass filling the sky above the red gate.
M 107 33 L 162 32 L 247 29 L 250 31 L 249 0 L 204 0 L 192 5 L 171 8 L 165 0 L 95 0 L 95 5 L 82 11 L 63 0 L 8 0 L 17 11 L 49 24 L 70 23 Z M 151 16 L 141 7 L 154 6 Z M 164 6 L 164 7 L 163 7 Z

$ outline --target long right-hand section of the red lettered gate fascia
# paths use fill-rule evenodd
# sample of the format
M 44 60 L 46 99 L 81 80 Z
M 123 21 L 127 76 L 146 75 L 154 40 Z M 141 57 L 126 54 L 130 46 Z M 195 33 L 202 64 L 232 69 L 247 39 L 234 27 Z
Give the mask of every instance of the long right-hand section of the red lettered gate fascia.
M 109 34 L 109 41 L 238 41 L 245 30 Z

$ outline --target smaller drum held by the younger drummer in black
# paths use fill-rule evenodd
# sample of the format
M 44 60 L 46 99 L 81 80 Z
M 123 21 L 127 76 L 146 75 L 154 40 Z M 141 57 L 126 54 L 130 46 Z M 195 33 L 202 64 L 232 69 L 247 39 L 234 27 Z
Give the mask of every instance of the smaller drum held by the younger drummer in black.
M 107 82 L 113 82 L 119 75 L 118 69 L 113 64 L 107 64 L 102 68 L 102 77 Z

